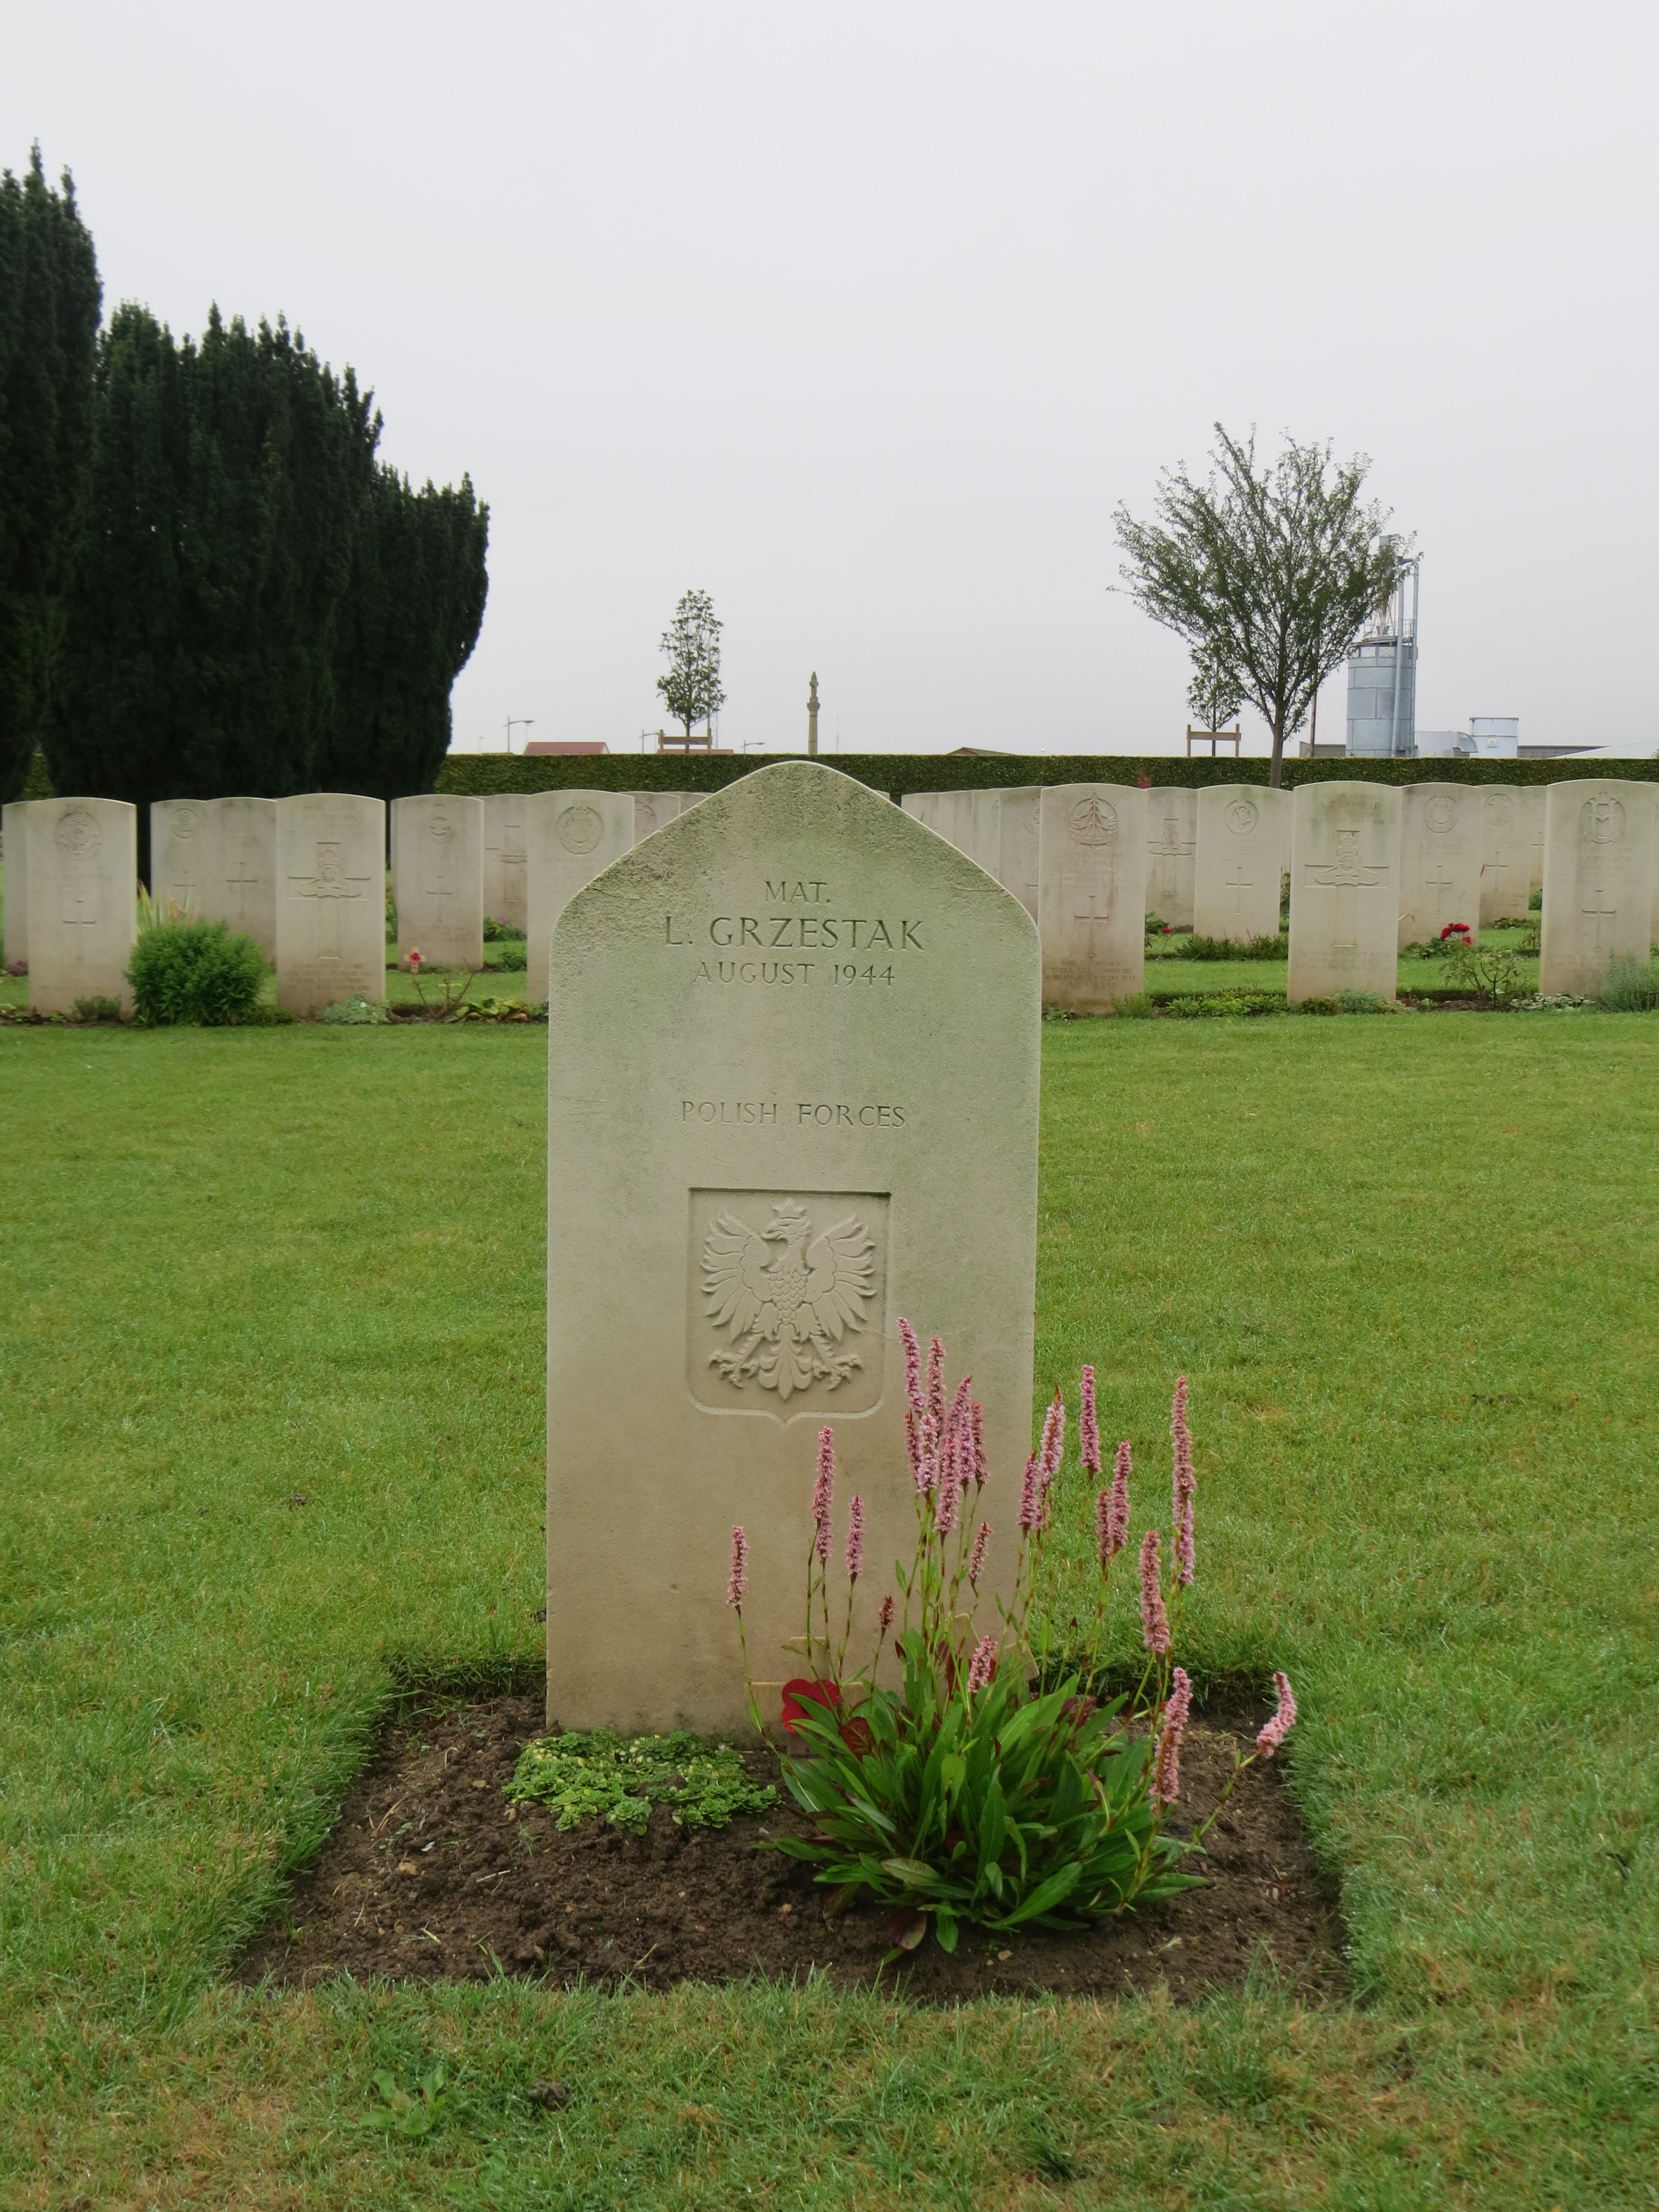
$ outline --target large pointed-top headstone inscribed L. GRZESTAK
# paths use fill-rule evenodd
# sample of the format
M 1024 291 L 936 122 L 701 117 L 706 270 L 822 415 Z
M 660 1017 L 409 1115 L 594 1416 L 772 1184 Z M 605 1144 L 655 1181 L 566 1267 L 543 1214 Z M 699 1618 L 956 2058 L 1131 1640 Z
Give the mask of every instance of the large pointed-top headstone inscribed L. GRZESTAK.
M 1139 920 L 1139 916 L 1137 916 Z M 816 1433 L 854 1646 L 911 1557 L 898 1316 L 984 1405 L 1013 1559 L 1031 1449 L 1037 933 L 878 792 L 757 770 L 577 891 L 549 1002 L 549 1719 L 745 1723 L 799 1661 Z M 962 1079 L 962 1053 L 973 1075 Z M 834 1588 L 834 1582 L 832 1582 Z M 845 1606 L 843 1595 L 836 1604 Z

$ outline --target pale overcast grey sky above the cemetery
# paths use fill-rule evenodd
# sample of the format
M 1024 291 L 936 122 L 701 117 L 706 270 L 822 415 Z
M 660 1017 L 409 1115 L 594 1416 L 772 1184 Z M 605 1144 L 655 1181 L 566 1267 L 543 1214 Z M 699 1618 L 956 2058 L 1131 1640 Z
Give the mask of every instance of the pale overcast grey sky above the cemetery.
M 53 0 L 0 161 L 73 168 L 106 312 L 283 310 L 389 460 L 471 471 L 458 748 L 635 745 L 701 584 L 723 743 L 803 743 L 816 668 L 825 748 L 1179 750 L 1110 513 L 1219 416 L 1374 456 L 1422 728 L 1652 752 L 1657 49 L 1637 4 Z

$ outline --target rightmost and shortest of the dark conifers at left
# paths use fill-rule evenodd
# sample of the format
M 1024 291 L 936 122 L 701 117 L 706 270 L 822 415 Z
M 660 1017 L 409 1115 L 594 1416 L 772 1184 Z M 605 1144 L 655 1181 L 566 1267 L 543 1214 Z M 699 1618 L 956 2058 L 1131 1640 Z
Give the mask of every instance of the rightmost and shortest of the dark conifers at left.
M 449 688 L 484 619 L 489 507 L 460 489 L 414 491 L 385 465 L 358 509 L 352 580 L 334 630 L 334 726 L 323 790 L 429 792 L 449 752 Z

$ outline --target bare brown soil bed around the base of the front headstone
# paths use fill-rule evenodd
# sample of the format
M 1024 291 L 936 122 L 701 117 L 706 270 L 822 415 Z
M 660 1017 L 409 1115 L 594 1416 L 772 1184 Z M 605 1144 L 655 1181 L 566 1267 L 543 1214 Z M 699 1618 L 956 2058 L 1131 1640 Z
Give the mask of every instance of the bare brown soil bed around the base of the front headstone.
M 1181 1747 L 1181 1812 L 1201 1820 L 1232 1772 L 1234 1743 L 1259 1721 L 1217 1719 Z M 560 1834 L 502 1787 L 522 1745 L 544 1732 L 540 1699 L 498 1697 L 392 1728 L 283 1920 L 239 1964 L 243 1982 L 312 1984 L 349 1971 L 416 1980 L 507 1973 L 617 1980 L 650 1989 L 745 1973 L 787 1980 L 807 1966 L 836 1982 L 874 1980 L 891 1949 L 887 1913 L 825 1918 L 830 1891 L 770 1832 L 805 1832 L 792 1805 L 726 1829 L 675 1827 L 666 1807 L 646 1836 L 597 1823 Z M 757 1752 L 752 1767 L 776 1778 Z M 933 1938 L 887 1969 L 911 1997 L 989 1991 L 1115 1997 L 1168 1984 L 1197 1997 L 1243 1982 L 1259 1951 L 1307 1995 L 1343 1986 L 1334 1898 L 1307 1849 L 1276 1767 L 1252 1767 L 1208 1838 L 1206 1887 L 1079 1936 L 962 1929 L 953 1955 Z

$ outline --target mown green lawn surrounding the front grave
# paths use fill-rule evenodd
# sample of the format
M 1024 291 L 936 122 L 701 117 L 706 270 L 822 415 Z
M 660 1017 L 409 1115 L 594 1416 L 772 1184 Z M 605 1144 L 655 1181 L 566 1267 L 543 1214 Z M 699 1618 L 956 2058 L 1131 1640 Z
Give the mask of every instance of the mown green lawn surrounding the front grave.
M 221 1980 L 394 1683 L 535 1668 L 542 1046 L 0 1031 L 0 2203 L 1659 2203 L 1644 1018 L 1044 1029 L 1037 1391 L 1139 1526 L 1192 1378 L 1352 2006 Z

